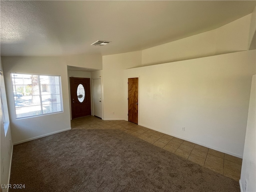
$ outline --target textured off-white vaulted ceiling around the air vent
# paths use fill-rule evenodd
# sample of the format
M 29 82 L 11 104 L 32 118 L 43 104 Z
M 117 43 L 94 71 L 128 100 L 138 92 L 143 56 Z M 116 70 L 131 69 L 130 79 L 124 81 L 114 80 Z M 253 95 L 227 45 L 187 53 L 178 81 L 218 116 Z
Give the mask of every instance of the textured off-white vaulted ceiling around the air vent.
M 117 54 L 199 34 L 255 1 L 1 1 L 2 56 Z M 108 40 L 105 46 L 91 46 Z

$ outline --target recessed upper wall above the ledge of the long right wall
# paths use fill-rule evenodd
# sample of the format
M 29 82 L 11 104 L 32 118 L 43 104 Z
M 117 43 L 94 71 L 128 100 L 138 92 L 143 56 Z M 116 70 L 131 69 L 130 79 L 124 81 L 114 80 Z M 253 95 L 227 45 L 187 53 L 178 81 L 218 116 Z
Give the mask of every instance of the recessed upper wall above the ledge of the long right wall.
M 251 20 L 249 14 L 215 30 L 142 50 L 142 65 L 247 50 Z

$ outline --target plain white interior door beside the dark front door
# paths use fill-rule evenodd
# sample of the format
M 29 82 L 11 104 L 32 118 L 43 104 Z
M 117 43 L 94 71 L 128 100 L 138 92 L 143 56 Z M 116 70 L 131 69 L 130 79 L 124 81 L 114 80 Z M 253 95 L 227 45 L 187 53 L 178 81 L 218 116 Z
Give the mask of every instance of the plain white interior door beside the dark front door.
M 92 80 L 93 86 L 93 107 L 94 107 L 94 116 L 102 118 L 101 110 L 101 82 L 100 79 Z

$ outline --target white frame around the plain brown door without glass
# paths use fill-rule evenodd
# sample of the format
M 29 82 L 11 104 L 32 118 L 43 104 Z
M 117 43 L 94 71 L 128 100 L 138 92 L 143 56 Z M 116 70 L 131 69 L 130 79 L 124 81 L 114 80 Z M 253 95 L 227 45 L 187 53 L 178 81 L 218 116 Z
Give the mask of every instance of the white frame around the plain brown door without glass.
M 128 78 L 138 78 L 138 125 L 140 125 L 140 76 L 126 76 L 124 79 L 124 103 L 125 103 L 125 112 L 126 118 L 128 121 Z

